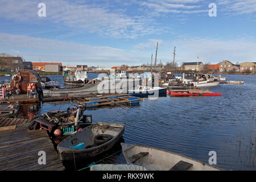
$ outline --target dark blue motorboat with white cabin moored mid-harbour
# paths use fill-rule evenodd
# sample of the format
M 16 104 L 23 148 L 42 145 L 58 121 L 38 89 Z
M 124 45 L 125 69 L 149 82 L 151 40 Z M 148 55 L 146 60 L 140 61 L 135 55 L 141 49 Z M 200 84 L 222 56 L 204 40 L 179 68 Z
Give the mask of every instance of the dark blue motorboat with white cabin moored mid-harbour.
M 150 87 L 150 86 L 142 86 L 137 85 L 134 90 L 129 90 L 129 94 L 132 96 L 148 96 L 157 94 L 157 96 L 162 96 L 166 94 L 167 88 L 162 88 L 158 86 Z

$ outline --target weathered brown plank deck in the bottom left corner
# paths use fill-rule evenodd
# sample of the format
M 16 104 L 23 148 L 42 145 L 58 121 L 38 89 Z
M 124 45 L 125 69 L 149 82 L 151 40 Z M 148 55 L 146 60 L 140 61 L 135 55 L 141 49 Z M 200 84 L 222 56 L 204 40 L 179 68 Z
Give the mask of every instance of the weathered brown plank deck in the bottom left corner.
M 21 124 L 19 125 L 20 122 Z M 12 123 L 17 123 L 18 125 L 12 125 Z M 26 120 L 26 122 L 14 121 L 5 124 L 4 127 L 0 127 L 0 170 L 64 170 L 63 163 L 53 147 L 47 131 L 28 130 L 29 123 L 29 120 Z M 46 164 L 38 163 L 41 156 L 39 151 L 46 152 Z

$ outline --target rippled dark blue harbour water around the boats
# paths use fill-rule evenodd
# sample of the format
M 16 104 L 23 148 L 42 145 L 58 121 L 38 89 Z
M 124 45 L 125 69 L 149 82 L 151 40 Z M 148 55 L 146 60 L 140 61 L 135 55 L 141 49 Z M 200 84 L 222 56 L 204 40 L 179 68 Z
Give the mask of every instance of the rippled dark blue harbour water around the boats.
M 211 97 L 160 97 L 144 99 L 139 106 L 86 110 L 93 122 L 124 123 L 126 143 L 142 144 L 177 152 L 208 163 L 209 151 L 217 153 L 217 167 L 232 170 L 255 170 L 256 161 L 256 76 L 223 75 L 244 85 L 209 88 L 222 93 Z M 62 76 L 48 76 L 64 86 Z M 97 77 L 88 73 L 89 78 Z M 0 77 L 0 80 L 10 77 Z M 34 107 L 36 114 L 58 109 L 61 102 Z M 65 103 L 61 109 L 66 109 Z M 31 106 L 29 106 L 31 107 Z M 33 108 L 31 108 L 33 109 Z M 116 151 L 120 150 L 117 148 Z M 110 151 L 108 155 L 116 151 Z M 111 153 L 113 152 L 113 153 Z M 100 156 L 102 159 L 105 156 Z M 96 162 L 96 161 L 94 161 Z M 91 162 L 87 162 L 90 164 Z M 122 152 L 104 163 L 126 163 Z M 81 162 L 86 167 L 86 162 Z M 80 168 L 81 168 L 80 167 Z M 79 169 L 77 167 L 76 169 Z

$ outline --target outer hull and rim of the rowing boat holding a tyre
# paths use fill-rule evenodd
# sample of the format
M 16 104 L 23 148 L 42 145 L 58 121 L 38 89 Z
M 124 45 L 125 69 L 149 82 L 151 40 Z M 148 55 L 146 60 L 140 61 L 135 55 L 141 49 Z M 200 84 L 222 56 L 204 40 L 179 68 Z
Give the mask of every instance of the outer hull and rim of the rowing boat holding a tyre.
M 104 123 L 105 125 L 108 123 Z M 94 124 L 95 125 L 95 124 Z M 125 126 L 124 125 L 119 125 L 119 124 L 109 124 L 112 126 L 117 126 L 120 128 L 120 131 L 117 135 L 115 135 L 114 138 L 109 140 L 108 142 L 101 144 L 100 146 L 97 147 L 92 147 L 88 149 L 83 149 L 83 150 L 77 150 L 77 149 L 71 149 L 68 147 L 63 147 L 63 143 L 69 139 L 76 138 L 76 136 L 85 131 L 86 129 L 90 129 L 94 125 L 88 126 L 85 129 L 82 129 L 81 131 L 77 132 L 76 134 L 71 135 L 70 137 L 64 139 L 59 143 L 57 146 L 57 151 L 59 152 L 60 159 L 63 161 L 74 161 L 75 160 L 85 160 L 89 158 L 93 158 L 94 156 L 97 156 L 101 154 L 102 152 L 108 151 L 110 148 L 112 148 L 121 138 L 122 135 L 125 131 Z M 107 129 L 106 129 L 107 130 Z M 107 132 L 105 132 L 107 133 Z M 88 135 L 89 136 L 89 135 Z

